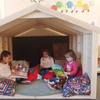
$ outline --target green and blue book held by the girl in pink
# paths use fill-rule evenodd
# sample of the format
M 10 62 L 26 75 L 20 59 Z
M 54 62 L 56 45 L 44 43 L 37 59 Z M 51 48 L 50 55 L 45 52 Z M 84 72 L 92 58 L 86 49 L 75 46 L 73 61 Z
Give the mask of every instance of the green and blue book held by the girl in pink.
M 53 64 L 51 67 L 52 67 L 54 73 L 56 74 L 56 76 L 66 76 L 67 77 L 67 75 L 64 74 L 64 70 L 63 70 L 62 66 Z

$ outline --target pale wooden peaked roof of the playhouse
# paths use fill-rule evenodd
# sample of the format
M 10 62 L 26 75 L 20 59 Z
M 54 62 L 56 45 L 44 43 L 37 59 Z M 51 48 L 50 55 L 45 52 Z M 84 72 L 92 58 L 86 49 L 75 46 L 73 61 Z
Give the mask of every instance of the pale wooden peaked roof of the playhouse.
M 43 5 L 34 4 L 0 20 L 0 36 L 13 37 L 32 28 L 45 27 L 66 35 L 99 33 L 100 28 L 52 10 Z

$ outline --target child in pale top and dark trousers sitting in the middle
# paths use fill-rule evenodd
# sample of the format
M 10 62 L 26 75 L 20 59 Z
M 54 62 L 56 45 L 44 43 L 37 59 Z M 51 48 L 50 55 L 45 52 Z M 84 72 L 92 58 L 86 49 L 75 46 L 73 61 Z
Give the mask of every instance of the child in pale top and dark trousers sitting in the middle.
M 42 78 L 44 75 L 51 70 L 51 65 L 54 64 L 54 60 L 49 56 L 48 49 L 43 50 L 43 57 L 40 60 L 41 72 L 39 73 Z

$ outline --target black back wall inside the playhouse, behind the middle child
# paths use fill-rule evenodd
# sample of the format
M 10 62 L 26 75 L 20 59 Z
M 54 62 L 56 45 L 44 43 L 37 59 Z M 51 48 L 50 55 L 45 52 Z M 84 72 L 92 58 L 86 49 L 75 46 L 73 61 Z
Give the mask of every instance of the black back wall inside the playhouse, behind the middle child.
M 40 63 L 42 48 L 47 47 L 53 56 L 53 44 L 68 43 L 69 36 L 13 37 L 13 59 L 27 60 L 30 67 Z

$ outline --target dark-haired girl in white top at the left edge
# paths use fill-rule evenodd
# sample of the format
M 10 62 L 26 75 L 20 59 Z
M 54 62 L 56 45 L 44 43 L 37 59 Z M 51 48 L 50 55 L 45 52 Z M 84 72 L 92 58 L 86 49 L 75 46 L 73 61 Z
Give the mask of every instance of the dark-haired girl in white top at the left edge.
M 10 66 L 8 65 L 10 60 L 11 53 L 9 51 L 3 51 L 0 58 L 0 78 L 15 80 L 14 78 L 10 78 L 11 70 Z

